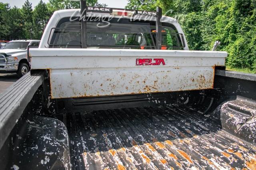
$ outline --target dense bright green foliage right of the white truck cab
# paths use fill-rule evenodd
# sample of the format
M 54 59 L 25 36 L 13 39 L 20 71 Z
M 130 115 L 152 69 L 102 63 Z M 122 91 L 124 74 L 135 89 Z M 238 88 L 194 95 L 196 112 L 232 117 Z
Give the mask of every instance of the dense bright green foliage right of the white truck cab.
M 226 64 L 256 72 L 256 0 L 128 0 L 126 8 L 155 10 L 178 19 L 191 50 L 220 41 Z

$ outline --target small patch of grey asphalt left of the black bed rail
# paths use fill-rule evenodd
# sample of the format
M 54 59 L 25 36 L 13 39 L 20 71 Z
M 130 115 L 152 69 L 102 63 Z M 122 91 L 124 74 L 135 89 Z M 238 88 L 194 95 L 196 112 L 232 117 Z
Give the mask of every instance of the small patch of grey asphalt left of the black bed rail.
M 0 73 L 0 94 L 18 80 L 16 73 L 1 74 Z

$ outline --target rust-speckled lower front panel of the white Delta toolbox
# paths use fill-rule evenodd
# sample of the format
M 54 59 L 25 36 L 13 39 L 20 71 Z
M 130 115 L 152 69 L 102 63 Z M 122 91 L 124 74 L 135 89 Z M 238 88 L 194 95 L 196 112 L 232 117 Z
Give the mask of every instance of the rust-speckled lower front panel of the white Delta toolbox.
M 193 70 L 194 69 L 194 70 Z M 79 98 L 205 90 L 214 87 L 215 66 L 204 68 L 164 68 L 139 72 L 137 70 L 83 71 L 61 73 L 50 69 L 52 98 Z M 63 79 L 65 77 L 65 79 Z

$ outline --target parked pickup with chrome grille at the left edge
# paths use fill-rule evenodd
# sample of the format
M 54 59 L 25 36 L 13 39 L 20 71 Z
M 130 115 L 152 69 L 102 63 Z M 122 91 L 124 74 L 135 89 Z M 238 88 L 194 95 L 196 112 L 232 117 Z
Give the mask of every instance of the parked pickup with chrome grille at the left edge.
M 19 77 L 30 70 L 27 58 L 28 45 L 38 46 L 40 40 L 15 40 L 0 49 L 0 72 L 16 72 Z

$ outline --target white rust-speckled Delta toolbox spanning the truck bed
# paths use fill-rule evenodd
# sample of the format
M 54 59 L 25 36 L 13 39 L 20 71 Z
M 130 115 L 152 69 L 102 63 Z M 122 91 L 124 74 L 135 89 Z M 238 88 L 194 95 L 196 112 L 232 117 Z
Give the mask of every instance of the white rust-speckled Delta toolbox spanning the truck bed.
M 226 52 L 31 49 L 33 69 L 49 69 L 52 98 L 211 89 Z M 162 58 L 166 65 L 136 65 Z

